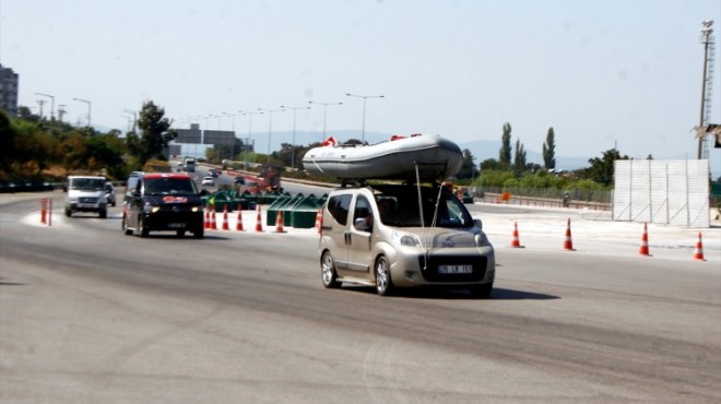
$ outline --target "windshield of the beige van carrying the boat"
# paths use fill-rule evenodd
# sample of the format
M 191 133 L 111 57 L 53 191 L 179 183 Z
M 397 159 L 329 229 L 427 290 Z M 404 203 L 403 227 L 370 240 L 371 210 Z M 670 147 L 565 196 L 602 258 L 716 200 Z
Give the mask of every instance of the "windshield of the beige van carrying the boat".
M 375 198 L 381 223 L 394 227 L 421 227 L 418 190 L 415 186 L 380 186 L 374 187 L 374 189 L 380 191 L 375 194 Z M 437 192 L 437 189 L 421 188 L 423 225 L 425 226 L 433 224 Z M 465 206 L 450 192 L 444 191 L 438 200 L 436 226 L 466 228 L 473 227 L 474 223 Z

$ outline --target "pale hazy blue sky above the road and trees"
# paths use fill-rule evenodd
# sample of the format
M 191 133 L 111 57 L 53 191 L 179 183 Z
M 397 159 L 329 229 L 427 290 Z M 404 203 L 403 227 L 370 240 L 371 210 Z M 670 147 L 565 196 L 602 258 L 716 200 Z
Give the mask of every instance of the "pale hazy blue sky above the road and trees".
M 176 128 L 361 130 L 500 140 L 556 155 L 695 158 L 701 21 L 719 0 L 0 0 L 20 105 L 126 130 L 152 100 Z M 712 114 L 721 123 L 721 43 Z M 383 98 L 346 96 L 383 95 Z M 343 103 L 323 107 L 318 103 Z M 57 111 L 56 111 L 57 114 Z M 238 135 L 243 138 L 244 135 Z M 721 148 L 711 148 L 721 165 Z M 542 162 L 541 162 L 542 163 Z

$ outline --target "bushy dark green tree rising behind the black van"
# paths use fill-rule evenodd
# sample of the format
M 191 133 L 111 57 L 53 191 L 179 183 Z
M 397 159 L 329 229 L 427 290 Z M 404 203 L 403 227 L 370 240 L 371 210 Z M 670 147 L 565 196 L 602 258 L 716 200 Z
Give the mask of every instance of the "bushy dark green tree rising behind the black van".
M 163 155 L 163 148 L 177 136 L 176 131 L 170 130 L 170 120 L 165 118 L 165 109 L 156 106 L 152 100 L 143 103 L 138 119 L 140 140 L 138 144 L 128 144 L 131 150 L 134 148 L 141 166 L 151 158 L 167 161 L 167 156 Z

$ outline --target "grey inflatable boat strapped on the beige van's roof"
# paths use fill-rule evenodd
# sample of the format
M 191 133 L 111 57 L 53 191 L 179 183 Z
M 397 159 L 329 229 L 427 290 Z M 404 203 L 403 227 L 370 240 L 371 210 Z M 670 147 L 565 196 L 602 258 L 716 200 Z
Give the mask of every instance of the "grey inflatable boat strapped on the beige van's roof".
M 373 145 L 339 145 L 331 136 L 303 157 L 304 168 L 339 179 L 444 179 L 461 169 L 458 144 L 439 135 L 393 135 Z

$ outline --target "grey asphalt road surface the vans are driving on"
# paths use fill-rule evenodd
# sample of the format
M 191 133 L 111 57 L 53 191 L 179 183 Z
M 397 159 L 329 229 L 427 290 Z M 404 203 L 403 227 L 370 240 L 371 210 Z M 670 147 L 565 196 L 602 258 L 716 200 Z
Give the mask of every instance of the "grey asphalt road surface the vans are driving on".
M 119 206 L 66 218 L 47 195 L 51 227 L 38 195 L 0 195 L 3 403 L 721 401 L 717 249 L 566 252 L 492 206 L 492 299 L 383 298 L 323 289 L 312 229 L 141 239 Z M 506 247 L 513 221 L 524 249 Z

